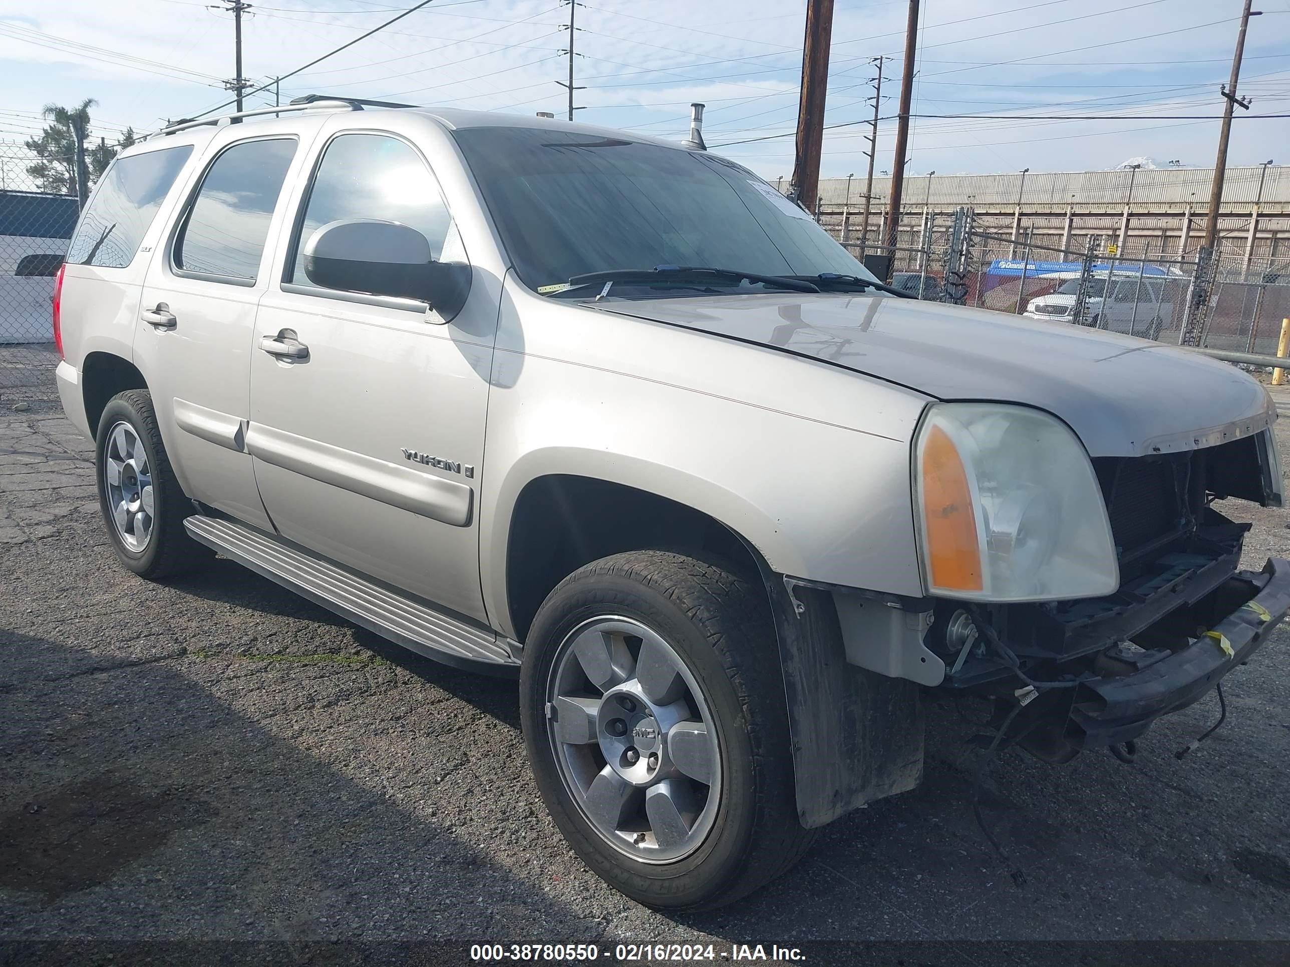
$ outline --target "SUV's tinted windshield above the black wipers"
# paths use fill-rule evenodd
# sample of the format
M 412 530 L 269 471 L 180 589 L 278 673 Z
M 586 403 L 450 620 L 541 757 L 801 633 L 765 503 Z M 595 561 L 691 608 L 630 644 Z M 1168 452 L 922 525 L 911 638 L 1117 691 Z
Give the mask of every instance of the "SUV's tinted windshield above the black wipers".
M 466 128 L 453 135 L 530 289 L 655 266 L 873 278 L 810 215 L 725 159 L 542 128 Z

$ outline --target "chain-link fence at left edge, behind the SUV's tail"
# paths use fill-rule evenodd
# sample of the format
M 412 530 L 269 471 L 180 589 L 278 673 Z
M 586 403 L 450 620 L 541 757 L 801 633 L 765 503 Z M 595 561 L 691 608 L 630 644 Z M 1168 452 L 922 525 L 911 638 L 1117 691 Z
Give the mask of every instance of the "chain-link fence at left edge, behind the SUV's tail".
M 5 402 L 55 396 L 54 276 L 80 209 L 74 195 L 41 191 L 41 179 L 28 170 L 40 161 L 23 144 L 0 142 L 0 398 Z

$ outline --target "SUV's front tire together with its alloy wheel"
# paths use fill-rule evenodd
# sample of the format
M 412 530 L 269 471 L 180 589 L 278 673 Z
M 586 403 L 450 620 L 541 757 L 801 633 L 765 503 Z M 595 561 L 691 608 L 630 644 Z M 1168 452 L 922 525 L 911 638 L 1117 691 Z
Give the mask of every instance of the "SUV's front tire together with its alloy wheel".
M 671 664 L 660 660 L 659 641 Z M 635 712 L 613 704 L 624 694 L 637 699 Z M 668 910 L 721 906 L 786 872 L 810 846 L 814 830 L 797 820 L 770 609 L 759 585 L 726 567 L 640 551 L 565 578 L 533 621 L 520 695 L 528 754 L 556 825 L 597 875 L 633 900 Z M 677 707 L 690 721 L 675 718 Z M 626 735 L 614 731 L 623 722 L 613 716 L 623 716 Z M 615 770 L 610 758 L 624 745 L 640 758 L 624 752 Z M 609 821 L 597 789 L 619 797 Z M 682 825 L 677 815 L 688 816 Z

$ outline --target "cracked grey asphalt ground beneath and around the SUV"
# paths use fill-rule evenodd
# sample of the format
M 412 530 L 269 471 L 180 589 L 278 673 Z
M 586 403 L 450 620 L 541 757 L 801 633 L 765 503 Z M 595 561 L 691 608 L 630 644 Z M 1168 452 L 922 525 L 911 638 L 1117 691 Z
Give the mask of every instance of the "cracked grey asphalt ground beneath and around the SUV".
M 1290 393 L 1280 397 L 1290 415 Z M 57 404 L 0 411 L 0 940 L 1290 941 L 1290 633 L 1158 723 L 1138 762 L 1004 753 L 978 830 L 973 731 L 934 708 L 920 789 L 826 829 L 738 908 L 668 917 L 564 845 L 511 682 L 421 659 L 226 561 L 120 569 L 89 444 Z M 1281 422 L 1290 454 L 1290 420 Z M 1254 522 L 1245 566 L 1286 554 Z M 946 941 L 956 941 L 948 944 Z M 920 948 L 922 949 L 922 948 Z M 1278 948 L 1285 952 L 1290 946 Z M 939 959 L 938 959 L 939 958 Z M 0 957 L 0 961 L 4 958 Z M 315 958 L 316 959 L 316 958 Z M 1064 959 L 1064 958 L 1063 958 Z M 1086 961 L 1085 961 L 1086 962 Z

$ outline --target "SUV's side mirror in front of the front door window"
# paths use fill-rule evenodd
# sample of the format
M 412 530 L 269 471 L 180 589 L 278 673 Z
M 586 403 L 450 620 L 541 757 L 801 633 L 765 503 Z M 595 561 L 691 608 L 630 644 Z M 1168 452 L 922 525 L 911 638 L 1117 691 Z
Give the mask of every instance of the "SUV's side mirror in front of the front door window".
M 470 266 L 435 262 L 424 235 L 374 218 L 328 222 L 304 242 L 303 263 L 313 285 L 417 299 L 445 320 L 461 312 L 470 286 Z

